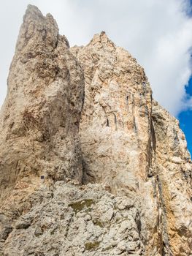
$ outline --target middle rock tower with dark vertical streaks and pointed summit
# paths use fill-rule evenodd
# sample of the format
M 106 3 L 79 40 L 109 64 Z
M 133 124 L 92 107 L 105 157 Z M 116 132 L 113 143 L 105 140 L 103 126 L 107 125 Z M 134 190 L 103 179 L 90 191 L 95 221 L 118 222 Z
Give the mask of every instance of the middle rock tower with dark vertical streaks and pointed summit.
M 85 184 L 101 182 L 116 195 L 137 198 L 141 239 L 158 253 L 158 197 L 153 166 L 152 91 L 144 69 L 104 32 L 85 48 L 71 48 L 85 73 L 80 123 Z M 153 248 L 153 249 L 152 249 Z

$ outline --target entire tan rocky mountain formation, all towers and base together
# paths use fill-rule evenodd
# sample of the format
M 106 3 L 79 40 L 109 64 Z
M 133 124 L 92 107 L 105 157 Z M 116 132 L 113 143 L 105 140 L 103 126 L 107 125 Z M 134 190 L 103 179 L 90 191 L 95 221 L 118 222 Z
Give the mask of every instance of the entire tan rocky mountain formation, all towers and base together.
M 0 121 L 0 256 L 192 255 L 185 135 L 104 32 L 29 6 Z

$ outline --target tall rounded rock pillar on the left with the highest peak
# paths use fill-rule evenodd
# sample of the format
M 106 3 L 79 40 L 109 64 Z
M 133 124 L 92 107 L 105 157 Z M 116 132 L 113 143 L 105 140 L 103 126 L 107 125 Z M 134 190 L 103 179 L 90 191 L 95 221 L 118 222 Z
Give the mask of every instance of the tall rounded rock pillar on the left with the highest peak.
M 53 17 L 29 6 L 0 116 L 0 194 L 24 178 L 82 180 L 79 122 L 84 78 Z

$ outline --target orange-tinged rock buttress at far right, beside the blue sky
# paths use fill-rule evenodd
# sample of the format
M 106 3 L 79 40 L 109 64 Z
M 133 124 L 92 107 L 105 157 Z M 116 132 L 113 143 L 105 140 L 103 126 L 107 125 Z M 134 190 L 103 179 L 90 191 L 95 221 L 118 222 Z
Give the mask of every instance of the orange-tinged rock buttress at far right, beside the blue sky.
M 168 255 L 192 252 L 192 163 L 179 122 L 157 102 L 153 104 L 155 166 L 161 198 L 163 240 Z

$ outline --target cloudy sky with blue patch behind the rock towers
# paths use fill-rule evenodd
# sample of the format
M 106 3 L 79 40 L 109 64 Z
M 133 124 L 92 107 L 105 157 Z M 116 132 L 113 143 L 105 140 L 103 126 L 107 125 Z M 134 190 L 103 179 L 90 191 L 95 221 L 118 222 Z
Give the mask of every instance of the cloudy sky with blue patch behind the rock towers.
M 131 53 L 145 72 L 153 97 L 180 126 L 192 152 L 191 0 L 6 0 L 0 8 L 0 105 L 9 64 L 28 4 L 58 22 L 70 45 L 86 45 L 93 34 L 108 37 Z

